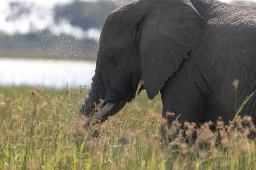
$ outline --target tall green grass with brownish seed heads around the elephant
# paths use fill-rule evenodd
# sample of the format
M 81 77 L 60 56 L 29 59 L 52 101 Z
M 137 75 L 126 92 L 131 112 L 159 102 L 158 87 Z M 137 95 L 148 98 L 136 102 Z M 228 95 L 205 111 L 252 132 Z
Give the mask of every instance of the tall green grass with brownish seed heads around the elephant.
M 229 126 L 219 121 L 219 133 L 211 122 L 200 129 L 186 123 L 185 137 L 174 122 L 167 145 L 159 95 L 149 101 L 142 93 L 102 125 L 85 128 L 77 115 L 86 94 L 83 88 L 0 88 L 0 169 L 256 169 L 249 117 L 237 116 Z

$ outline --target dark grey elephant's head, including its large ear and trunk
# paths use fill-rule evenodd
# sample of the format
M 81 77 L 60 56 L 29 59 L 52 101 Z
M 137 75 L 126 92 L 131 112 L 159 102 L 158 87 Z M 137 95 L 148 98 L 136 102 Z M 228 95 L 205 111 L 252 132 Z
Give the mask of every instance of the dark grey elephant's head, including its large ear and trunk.
M 204 20 L 189 0 L 139 0 L 111 12 L 100 35 L 92 89 L 80 109 L 112 103 L 101 120 L 134 98 L 138 83 L 149 99 L 200 43 Z

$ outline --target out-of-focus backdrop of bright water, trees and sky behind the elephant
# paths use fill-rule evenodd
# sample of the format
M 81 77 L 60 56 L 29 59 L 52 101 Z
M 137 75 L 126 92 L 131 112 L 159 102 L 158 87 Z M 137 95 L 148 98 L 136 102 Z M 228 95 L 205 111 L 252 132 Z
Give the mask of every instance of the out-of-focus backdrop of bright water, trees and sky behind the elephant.
M 105 18 L 129 2 L 1 0 L 0 86 L 89 87 Z

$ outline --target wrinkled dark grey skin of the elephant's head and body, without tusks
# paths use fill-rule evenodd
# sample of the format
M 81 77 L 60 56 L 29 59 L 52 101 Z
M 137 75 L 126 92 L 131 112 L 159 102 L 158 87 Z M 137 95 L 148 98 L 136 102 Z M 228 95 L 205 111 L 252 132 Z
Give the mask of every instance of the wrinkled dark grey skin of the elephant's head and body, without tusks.
M 138 82 L 149 99 L 161 92 L 179 121 L 227 123 L 256 89 L 256 8 L 214 0 L 140 0 L 109 14 L 100 35 L 88 116 L 102 98 L 116 114 Z M 237 91 L 233 86 L 239 80 Z M 240 112 L 256 123 L 256 94 Z M 175 117 L 169 117 L 169 124 Z

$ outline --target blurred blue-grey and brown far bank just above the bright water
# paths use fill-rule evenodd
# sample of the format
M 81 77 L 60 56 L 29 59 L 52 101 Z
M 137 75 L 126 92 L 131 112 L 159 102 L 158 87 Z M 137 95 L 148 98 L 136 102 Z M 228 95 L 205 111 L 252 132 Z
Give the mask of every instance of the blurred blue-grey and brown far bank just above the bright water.
M 0 57 L 96 60 L 98 43 L 49 30 L 24 35 L 0 35 Z

